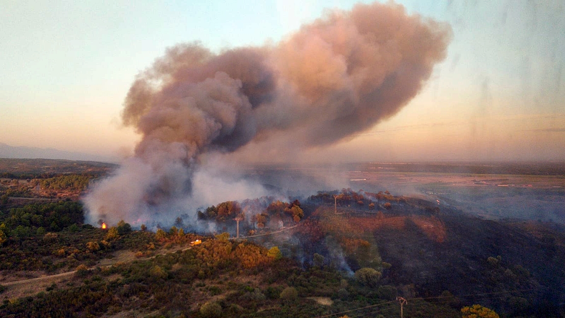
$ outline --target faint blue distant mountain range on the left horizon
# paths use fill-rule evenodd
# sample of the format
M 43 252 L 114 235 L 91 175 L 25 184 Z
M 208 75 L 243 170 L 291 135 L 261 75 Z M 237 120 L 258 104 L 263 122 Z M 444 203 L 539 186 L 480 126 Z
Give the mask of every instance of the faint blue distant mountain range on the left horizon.
M 97 154 L 62 151 L 54 148 L 13 147 L 0 143 L 0 158 L 42 158 L 66 159 L 100 162 L 118 162 L 118 157 L 101 156 Z

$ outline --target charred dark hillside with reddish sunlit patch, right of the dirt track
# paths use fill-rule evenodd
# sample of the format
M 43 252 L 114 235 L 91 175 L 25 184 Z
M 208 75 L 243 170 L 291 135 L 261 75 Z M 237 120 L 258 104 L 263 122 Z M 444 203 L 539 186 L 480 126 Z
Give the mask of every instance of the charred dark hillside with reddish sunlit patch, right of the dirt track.
M 406 297 L 449 294 L 460 304 L 479 302 L 509 316 L 560 315 L 562 226 L 483 220 L 421 199 L 390 199 L 390 208 L 377 213 L 315 208 L 292 235 L 257 242 L 282 244 L 304 264 L 315 263 L 312 255 L 319 253 L 328 264 L 342 257 L 342 270 L 374 267 L 382 270 L 383 285 L 396 286 Z

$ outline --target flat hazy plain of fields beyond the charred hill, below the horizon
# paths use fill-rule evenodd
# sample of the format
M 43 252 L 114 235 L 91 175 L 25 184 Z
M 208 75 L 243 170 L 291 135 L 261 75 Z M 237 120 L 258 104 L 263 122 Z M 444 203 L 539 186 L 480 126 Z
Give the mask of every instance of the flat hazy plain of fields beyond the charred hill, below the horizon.
M 308 189 L 378 192 L 440 201 L 490 220 L 517 218 L 565 223 L 565 164 L 347 164 L 263 166 L 263 183 Z M 292 191 L 289 194 L 293 194 Z

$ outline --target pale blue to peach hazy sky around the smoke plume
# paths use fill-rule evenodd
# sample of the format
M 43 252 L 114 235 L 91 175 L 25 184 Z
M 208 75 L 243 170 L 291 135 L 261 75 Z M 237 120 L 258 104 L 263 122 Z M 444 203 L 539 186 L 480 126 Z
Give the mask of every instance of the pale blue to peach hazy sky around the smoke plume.
M 447 58 L 396 116 L 303 157 L 565 161 L 565 1 L 399 2 L 451 25 Z M 131 153 L 124 97 L 167 47 L 260 46 L 354 3 L 0 0 L 0 143 Z

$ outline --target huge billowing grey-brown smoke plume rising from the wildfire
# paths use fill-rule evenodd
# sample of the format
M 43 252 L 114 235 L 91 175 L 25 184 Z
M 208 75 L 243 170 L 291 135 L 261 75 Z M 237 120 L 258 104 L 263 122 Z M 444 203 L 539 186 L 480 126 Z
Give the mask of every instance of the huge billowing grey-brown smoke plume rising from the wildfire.
M 86 197 L 90 221 L 137 224 L 266 194 L 219 158 L 250 142 L 297 152 L 371 128 L 419 92 L 449 40 L 447 25 L 373 3 L 329 12 L 276 45 L 168 49 L 129 89 L 123 122 L 142 139 Z

